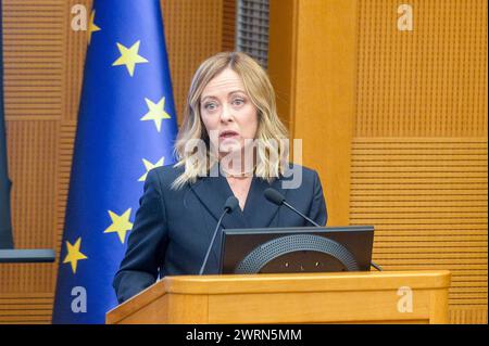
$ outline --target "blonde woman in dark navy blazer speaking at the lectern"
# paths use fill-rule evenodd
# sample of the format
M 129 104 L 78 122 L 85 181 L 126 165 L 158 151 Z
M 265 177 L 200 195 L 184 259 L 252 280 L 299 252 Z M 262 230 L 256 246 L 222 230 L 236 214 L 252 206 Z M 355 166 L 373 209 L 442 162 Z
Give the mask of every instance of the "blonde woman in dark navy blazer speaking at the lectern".
M 158 278 L 197 274 L 230 196 L 238 205 L 224 216 L 225 229 L 311 226 L 268 202 L 268 188 L 326 225 L 319 178 L 314 170 L 288 164 L 286 139 L 272 84 L 254 60 L 231 52 L 204 61 L 192 78 L 175 144 L 178 162 L 147 176 L 113 282 L 118 302 Z M 299 183 L 287 185 L 291 174 L 299 174 Z M 217 273 L 220 246 L 214 243 L 204 273 Z

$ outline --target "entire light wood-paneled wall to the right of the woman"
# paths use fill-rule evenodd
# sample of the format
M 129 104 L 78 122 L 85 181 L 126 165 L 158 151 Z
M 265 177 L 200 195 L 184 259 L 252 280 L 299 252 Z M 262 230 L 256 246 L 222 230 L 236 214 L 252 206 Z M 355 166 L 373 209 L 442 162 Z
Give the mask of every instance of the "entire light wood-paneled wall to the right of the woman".
M 279 112 L 328 225 L 374 225 L 385 270 L 450 269 L 450 321 L 487 323 L 487 2 L 402 3 L 412 31 L 399 1 L 271 0 Z

